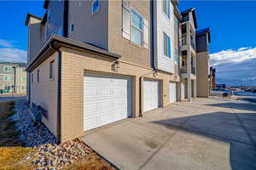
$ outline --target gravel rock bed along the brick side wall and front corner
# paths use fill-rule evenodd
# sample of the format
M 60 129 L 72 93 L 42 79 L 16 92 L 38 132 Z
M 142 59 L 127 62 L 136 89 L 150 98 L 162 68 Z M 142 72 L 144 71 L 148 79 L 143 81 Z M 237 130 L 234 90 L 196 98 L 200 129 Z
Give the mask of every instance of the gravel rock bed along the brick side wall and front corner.
M 26 147 L 33 147 L 36 152 L 30 156 L 30 163 L 40 170 L 61 169 L 84 156 L 96 155 L 81 139 L 74 139 L 57 144 L 55 136 L 43 123 L 34 124 L 28 111 L 26 100 L 15 102 L 16 116 L 19 118 L 20 139 Z

